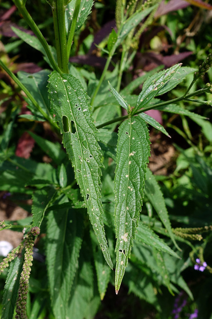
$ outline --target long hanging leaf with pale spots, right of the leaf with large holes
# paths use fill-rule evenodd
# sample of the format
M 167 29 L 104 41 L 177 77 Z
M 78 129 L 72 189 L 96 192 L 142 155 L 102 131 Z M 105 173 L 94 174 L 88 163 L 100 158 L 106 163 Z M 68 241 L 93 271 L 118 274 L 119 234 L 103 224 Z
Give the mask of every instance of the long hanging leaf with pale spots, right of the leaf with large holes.
M 138 227 L 149 155 L 149 135 L 144 120 L 135 117 L 123 122 L 119 127 L 115 176 L 117 294 Z

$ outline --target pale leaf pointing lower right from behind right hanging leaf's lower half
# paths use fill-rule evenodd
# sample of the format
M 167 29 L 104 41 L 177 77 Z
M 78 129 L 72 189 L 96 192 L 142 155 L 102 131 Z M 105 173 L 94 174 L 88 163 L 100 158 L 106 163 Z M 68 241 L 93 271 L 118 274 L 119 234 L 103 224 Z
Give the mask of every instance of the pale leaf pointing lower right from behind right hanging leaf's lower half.
M 139 221 L 139 227 L 136 231 L 136 240 L 149 245 L 158 251 L 163 251 L 171 256 L 180 258 L 165 242 L 162 240 L 155 232 L 145 225 L 143 222 Z

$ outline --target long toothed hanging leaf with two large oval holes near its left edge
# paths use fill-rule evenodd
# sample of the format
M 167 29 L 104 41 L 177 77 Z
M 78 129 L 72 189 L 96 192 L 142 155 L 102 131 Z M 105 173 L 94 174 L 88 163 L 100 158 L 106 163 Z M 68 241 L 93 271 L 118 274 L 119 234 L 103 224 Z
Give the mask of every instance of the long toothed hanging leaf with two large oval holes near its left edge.
M 53 72 L 49 80 L 51 106 L 56 114 L 63 143 L 74 167 L 75 177 L 86 203 L 95 235 L 105 260 L 113 268 L 103 224 L 100 193 L 102 166 L 96 128 L 91 120 L 88 96 L 80 82 L 70 74 Z M 75 133 L 71 132 L 71 129 Z

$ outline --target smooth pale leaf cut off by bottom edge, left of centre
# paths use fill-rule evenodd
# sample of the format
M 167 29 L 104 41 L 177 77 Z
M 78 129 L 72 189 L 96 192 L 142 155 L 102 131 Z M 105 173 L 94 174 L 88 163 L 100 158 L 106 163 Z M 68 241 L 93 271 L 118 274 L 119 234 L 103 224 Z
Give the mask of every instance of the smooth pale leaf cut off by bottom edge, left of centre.
M 93 297 L 93 270 L 87 250 L 88 246 L 84 245 L 80 253 L 79 268 L 71 290 L 67 319 L 84 319 L 86 308 Z

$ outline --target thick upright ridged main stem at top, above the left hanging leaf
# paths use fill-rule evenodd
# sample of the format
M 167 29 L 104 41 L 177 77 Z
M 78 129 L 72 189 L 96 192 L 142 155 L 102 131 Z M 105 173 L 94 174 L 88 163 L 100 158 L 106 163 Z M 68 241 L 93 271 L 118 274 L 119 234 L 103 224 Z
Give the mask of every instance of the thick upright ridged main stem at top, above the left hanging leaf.
M 64 5 L 64 0 L 52 1 L 52 14 L 54 21 L 55 44 L 58 57 L 58 66 L 63 73 L 69 73 L 67 58 L 65 9 L 66 5 Z

